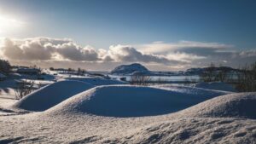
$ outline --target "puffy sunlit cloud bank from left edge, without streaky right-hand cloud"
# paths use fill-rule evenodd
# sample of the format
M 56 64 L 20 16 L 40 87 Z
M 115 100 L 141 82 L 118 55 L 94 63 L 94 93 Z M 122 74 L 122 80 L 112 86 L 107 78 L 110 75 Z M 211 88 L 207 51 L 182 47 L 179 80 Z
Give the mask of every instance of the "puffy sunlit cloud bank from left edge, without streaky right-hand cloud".
M 73 60 L 90 62 L 144 62 L 160 64 L 186 63 L 170 55 L 143 54 L 127 45 L 110 46 L 109 49 L 94 49 L 79 46 L 71 39 L 34 37 L 4 40 L 3 55 L 9 60 Z

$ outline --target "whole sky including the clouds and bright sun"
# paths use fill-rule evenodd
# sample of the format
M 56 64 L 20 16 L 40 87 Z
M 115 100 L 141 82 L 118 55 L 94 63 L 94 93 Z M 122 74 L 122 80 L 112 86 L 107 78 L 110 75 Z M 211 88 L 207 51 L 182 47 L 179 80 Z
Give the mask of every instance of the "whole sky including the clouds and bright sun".
M 253 0 L 0 0 L 0 56 L 15 65 L 178 71 L 256 60 Z

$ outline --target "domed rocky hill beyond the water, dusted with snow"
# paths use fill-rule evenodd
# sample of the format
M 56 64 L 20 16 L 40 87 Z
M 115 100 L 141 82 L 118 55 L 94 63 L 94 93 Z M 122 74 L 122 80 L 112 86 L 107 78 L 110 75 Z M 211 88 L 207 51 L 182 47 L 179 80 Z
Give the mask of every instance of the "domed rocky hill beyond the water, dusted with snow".
M 131 65 L 121 65 L 117 66 L 111 71 L 111 74 L 115 75 L 131 75 L 133 72 L 149 72 L 145 66 L 141 64 L 134 63 Z

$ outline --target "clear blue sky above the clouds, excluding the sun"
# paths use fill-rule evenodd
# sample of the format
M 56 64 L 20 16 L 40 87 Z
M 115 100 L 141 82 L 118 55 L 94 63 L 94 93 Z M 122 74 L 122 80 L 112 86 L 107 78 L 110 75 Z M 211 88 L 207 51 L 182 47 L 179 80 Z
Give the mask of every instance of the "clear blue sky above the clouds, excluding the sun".
M 180 41 L 250 50 L 256 45 L 255 8 L 253 0 L 1 0 L 0 16 L 24 25 L 5 28 L 0 37 L 67 37 L 107 50 Z

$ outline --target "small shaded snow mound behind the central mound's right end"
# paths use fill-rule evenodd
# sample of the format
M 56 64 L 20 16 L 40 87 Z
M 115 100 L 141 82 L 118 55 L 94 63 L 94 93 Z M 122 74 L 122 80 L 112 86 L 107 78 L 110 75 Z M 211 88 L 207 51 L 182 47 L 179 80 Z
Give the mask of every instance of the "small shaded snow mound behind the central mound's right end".
M 195 87 L 203 88 L 203 89 L 215 89 L 215 90 L 236 92 L 236 89 L 232 85 L 221 83 L 221 82 L 198 83 L 198 84 L 195 84 Z

